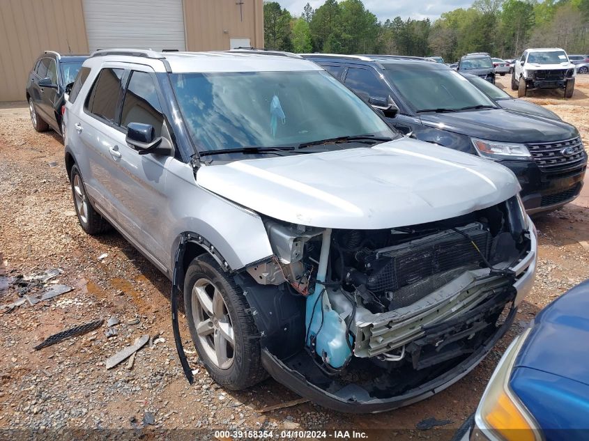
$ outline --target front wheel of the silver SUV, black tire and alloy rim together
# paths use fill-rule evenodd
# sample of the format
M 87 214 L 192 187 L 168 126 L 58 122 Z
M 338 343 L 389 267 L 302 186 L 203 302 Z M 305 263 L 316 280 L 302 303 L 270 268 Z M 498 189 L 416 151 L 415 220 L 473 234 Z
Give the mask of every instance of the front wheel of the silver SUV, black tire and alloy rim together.
M 217 384 L 239 390 L 268 376 L 250 305 L 208 254 L 194 258 L 186 270 L 184 307 L 194 347 Z

